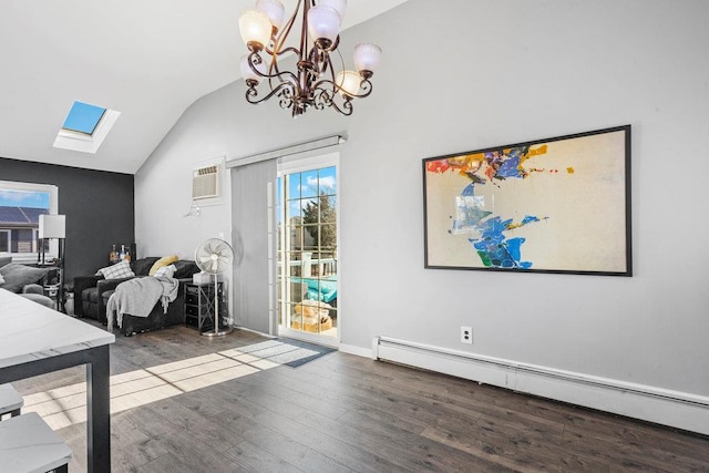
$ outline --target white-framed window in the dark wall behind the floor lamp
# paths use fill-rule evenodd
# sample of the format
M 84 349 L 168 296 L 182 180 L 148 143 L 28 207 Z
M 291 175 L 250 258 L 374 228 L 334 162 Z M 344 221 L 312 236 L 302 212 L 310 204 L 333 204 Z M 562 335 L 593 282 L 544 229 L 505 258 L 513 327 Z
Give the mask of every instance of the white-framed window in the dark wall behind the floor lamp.
M 56 214 L 56 186 L 0 181 L 0 255 L 34 260 L 40 215 Z M 49 240 L 45 251 L 56 256 L 58 250 L 56 240 Z

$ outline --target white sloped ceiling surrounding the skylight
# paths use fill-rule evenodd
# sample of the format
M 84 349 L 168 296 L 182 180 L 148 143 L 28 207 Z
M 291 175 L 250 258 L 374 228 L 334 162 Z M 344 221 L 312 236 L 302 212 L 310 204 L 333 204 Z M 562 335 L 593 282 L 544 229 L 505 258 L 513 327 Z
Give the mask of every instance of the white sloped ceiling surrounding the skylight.
M 343 28 L 404 1 L 350 0 Z M 2 0 L 0 157 L 135 173 L 187 106 L 240 78 L 254 3 Z M 121 112 L 96 154 L 52 146 L 74 101 Z

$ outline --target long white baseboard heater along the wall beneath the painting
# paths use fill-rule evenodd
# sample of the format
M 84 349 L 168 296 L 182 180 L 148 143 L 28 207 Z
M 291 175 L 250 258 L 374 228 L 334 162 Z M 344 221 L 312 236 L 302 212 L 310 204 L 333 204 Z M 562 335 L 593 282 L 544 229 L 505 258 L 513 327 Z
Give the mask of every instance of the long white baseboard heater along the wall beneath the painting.
M 374 337 L 372 358 L 709 435 L 709 398 Z

